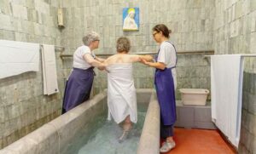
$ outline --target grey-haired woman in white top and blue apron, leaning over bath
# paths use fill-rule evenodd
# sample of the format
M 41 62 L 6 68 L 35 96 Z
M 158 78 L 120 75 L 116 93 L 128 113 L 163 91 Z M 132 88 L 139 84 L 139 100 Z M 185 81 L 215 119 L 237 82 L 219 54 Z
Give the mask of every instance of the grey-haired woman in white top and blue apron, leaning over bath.
M 73 54 L 73 70 L 67 78 L 64 92 L 62 114 L 79 106 L 90 98 L 95 73 L 94 67 L 104 70 L 103 59 L 96 57 L 92 50 L 98 48 L 100 37 L 95 31 L 91 31 L 83 37 L 84 45 L 76 49 Z

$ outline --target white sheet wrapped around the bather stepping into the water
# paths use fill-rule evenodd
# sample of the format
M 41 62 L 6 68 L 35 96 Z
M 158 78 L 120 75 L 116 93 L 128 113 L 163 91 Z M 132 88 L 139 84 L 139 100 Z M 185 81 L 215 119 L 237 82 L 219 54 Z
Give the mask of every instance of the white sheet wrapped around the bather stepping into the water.
M 132 64 L 119 63 L 107 67 L 108 73 L 108 120 L 121 123 L 130 115 L 137 123 L 137 96 L 132 77 Z

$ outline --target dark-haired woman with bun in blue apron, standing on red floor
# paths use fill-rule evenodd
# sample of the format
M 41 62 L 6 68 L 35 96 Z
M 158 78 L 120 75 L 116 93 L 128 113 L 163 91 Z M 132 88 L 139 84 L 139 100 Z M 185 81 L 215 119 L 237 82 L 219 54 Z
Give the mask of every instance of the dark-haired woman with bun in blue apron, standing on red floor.
M 176 49 L 170 43 L 171 31 L 163 25 L 156 25 L 153 28 L 153 37 L 155 42 L 160 44 L 158 54 L 155 56 L 155 62 L 143 63 L 155 67 L 154 85 L 158 102 L 160 104 L 160 136 L 166 141 L 160 147 L 160 152 L 172 150 L 175 147 L 173 140 L 173 125 L 176 121 Z

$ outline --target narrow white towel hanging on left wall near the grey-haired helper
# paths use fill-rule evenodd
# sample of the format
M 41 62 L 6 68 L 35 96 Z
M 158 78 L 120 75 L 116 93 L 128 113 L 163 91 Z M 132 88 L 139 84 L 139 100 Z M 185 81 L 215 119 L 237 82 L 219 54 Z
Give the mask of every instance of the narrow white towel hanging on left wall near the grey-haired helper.
M 44 94 L 55 94 L 59 92 L 55 62 L 55 47 L 43 44 L 42 67 L 44 79 Z

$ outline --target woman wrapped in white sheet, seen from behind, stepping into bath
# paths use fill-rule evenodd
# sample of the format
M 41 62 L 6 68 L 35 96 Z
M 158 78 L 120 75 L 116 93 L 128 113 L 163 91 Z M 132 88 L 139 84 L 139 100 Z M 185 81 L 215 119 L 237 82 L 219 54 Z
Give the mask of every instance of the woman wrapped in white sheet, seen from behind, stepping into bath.
M 123 122 L 123 141 L 137 123 L 137 97 L 132 77 L 132 63 L 152 60 L 150 55 L 128 54 L 131 44 L 127 37 L 119 37 L 116 44 L 117 54 L 105 60 L 108 70 L 108 120 Z

